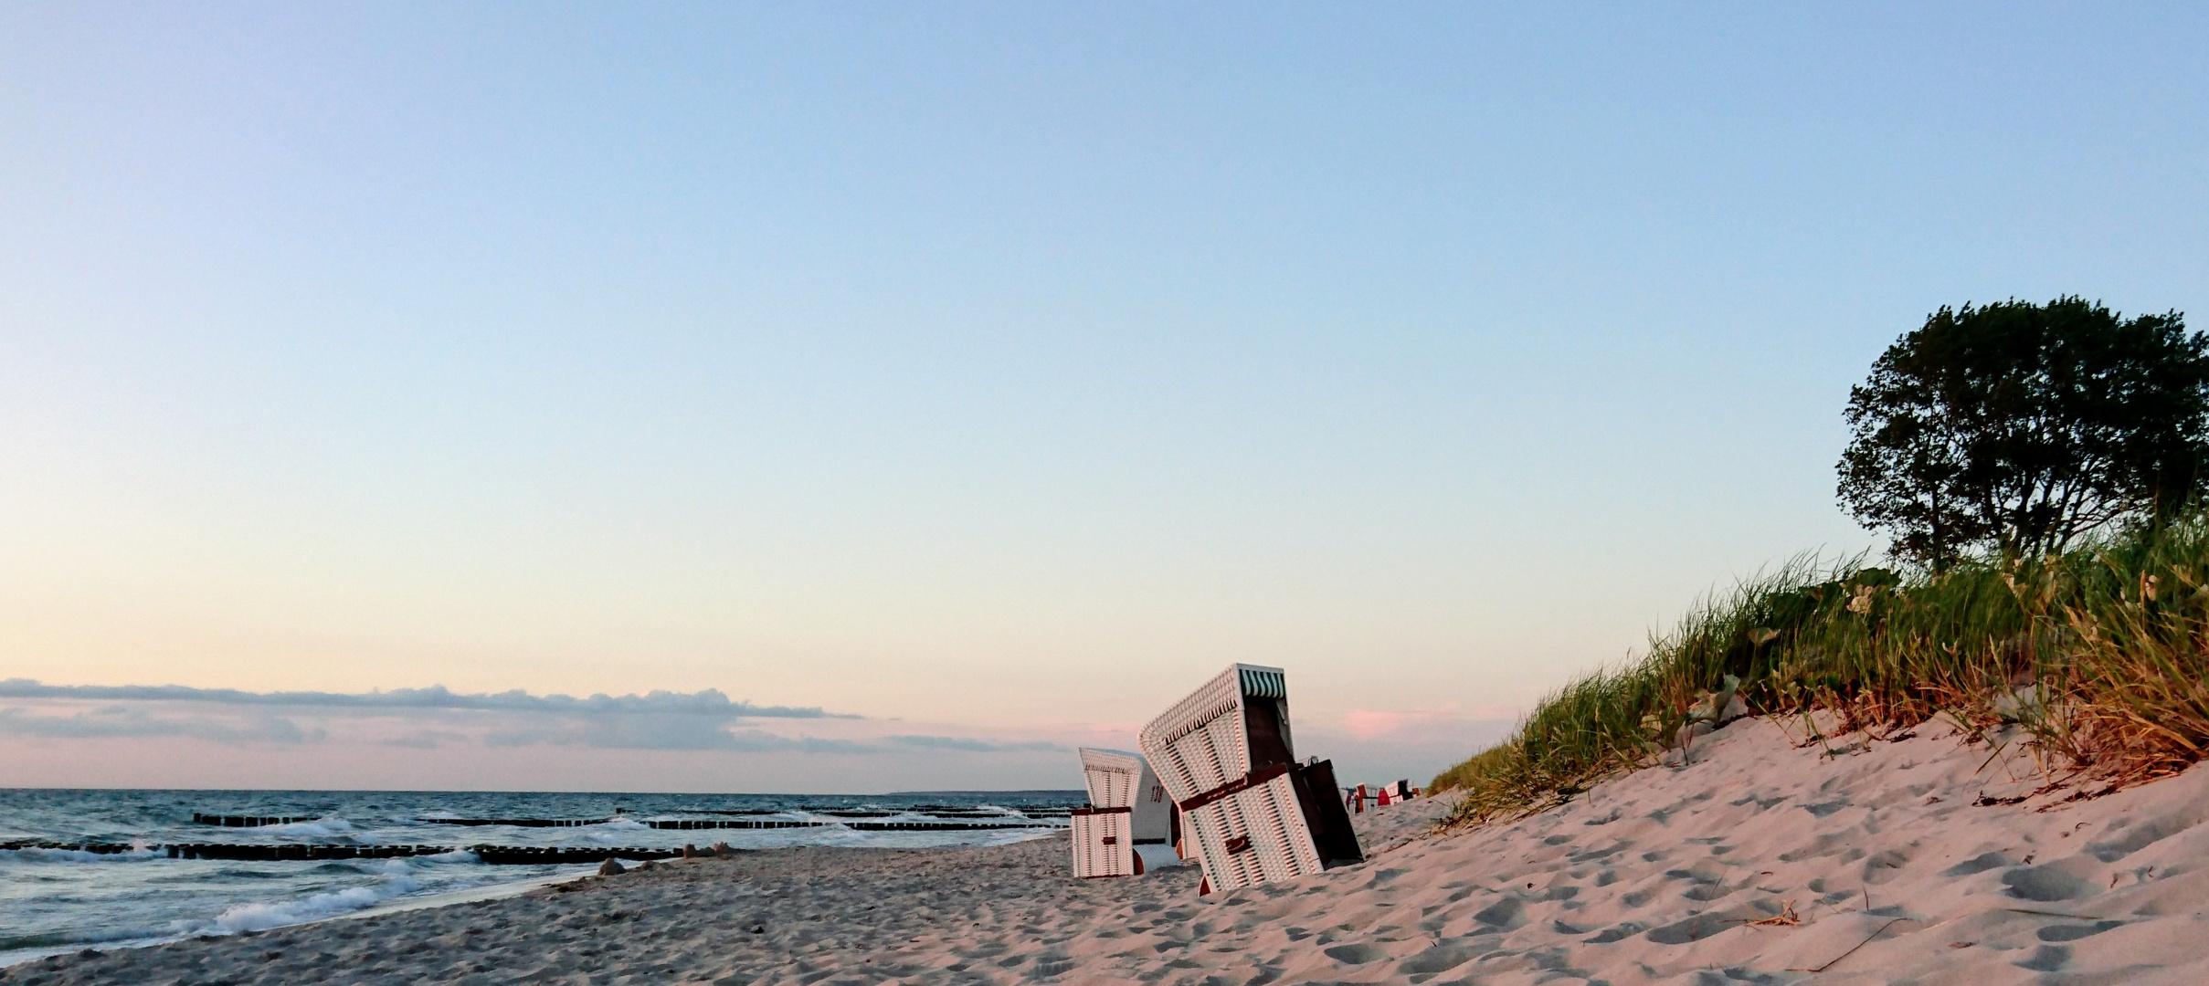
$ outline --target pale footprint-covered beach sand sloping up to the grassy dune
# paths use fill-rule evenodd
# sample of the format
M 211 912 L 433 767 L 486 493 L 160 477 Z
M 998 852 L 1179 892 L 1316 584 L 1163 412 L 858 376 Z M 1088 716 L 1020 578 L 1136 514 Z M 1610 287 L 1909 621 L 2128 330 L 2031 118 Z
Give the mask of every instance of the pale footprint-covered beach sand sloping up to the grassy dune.
M 2037 785 L 1986 759 L 1750 719 L 1518 825 L 1405 843 L 1440 805 L 1365 814 L 1365 865 L 1208 900 L 1193 867 L 1074 880 L 1063 838 L 778 849 L 0 982 L 2209 982 L 2209 772 L 2034 812 L 1973 805 Z M 1747 924 L 1787 902 L 1798 926 Z

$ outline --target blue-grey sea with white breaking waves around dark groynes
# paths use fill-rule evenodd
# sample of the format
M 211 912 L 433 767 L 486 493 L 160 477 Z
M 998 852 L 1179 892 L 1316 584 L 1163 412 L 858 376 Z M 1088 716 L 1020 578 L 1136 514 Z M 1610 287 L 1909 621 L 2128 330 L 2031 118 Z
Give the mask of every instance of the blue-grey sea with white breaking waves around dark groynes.
M 0 790 L 0 966 L 82 949 L 479 900 L 568 880 L 599 862 L 486 862 L 501 847 L 667 851 L 844 845 L 1003 845 L 1067 827 L 1058 792 L 572 794 Z M 674 827 L 731 821 L 793 827 Z M 559 823 L 559 825 L 543 825 Z M 658 823 L 658 825 L 654 825 Z M 358 851 L 362 858 L 188 858 Z M 479 847 L 493 851 L 479 854 Z M 406 856 L 367 858 L 369 854 Z M 506 854 L 510 858 L 512 854 Z M 636 860 L 632 860 L 636 862 Z

